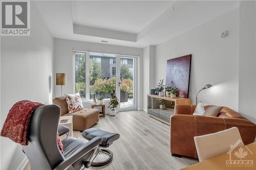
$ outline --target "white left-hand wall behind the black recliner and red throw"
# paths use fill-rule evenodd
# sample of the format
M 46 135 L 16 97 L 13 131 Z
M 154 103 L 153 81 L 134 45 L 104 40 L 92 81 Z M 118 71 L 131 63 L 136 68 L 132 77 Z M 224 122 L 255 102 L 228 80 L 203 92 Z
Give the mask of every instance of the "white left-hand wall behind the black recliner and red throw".
M 51 102 L 53 38 L 33 2 L 30 23 L 30 36 L 1 37 L 1 129 L 17 101 Z M 1 137 L 0 169 L 17 169 L 24 159 L 19 144 Z

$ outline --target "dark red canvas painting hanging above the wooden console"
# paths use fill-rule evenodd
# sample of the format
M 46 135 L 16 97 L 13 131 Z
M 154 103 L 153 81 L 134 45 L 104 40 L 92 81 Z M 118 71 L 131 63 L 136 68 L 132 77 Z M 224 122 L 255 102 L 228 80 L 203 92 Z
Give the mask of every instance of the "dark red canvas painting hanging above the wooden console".
M 191 54 L 167 60 L 166 86 L 178 88 L 177 96 L 188 98 Z

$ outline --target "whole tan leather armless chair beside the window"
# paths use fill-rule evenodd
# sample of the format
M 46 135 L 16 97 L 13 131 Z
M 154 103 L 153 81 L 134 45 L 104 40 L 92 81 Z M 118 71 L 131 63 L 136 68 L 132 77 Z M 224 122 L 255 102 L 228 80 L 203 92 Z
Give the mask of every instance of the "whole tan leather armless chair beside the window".
M 99 110 L 84 108 L 82 110 L 69 113 L 65 96 L 53 99 L 53 104 L 60 107 L 60 116 L 73 115 L 73 129 L 83 131 L 89 129 L 99 122 Z

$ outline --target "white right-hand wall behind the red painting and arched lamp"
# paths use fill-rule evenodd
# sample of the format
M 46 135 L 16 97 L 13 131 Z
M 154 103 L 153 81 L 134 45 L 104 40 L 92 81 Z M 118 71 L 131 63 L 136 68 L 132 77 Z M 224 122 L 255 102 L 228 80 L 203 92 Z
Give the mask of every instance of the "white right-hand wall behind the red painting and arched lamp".
M 220 38 L 226 30 L 229 36 Z M 239 9 L 156 45 L 155 84 L 159 79 L 166 80 L 167 59 L 187 54 L 192 54 L 189 88 L 192 103 L 196 93 L 210 83 L 214 87 L 202 91 L 199 101 L 238 111 Z

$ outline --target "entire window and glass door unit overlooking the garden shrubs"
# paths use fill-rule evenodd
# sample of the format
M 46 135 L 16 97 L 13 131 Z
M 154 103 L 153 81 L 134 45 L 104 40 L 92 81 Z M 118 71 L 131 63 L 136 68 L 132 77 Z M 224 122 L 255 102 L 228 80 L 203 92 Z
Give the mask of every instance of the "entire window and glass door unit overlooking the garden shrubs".
M 73 52 L 75 61 L 75 92 L 81 98 L 91 100 L 103 96 L 109 99 L 118 90 L 120 107 L 134 105 L 135 58 L 107 53 Z M 117 60 L 118 59 L 118 60 Z M 117 69 L 117 64 L 120 67 Z M 119 77 L 120 75 L 120 77 Z M 116 88 L 116 76 L 121 85 Z

